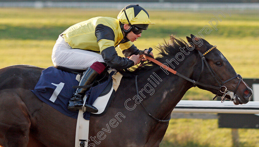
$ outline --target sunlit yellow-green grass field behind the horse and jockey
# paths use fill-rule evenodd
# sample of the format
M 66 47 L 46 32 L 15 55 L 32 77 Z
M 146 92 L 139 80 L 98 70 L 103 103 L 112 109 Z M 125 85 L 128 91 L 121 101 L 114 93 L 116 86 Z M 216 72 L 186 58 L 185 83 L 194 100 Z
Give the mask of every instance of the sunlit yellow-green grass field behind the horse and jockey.
M 58 35 L 69 26 L 96 16 L 116 18 L 119 11 L 85 9 L 0 8 L 0 68 L 15 64 L 52 66 L 51 52 Z M 147 31 L 134 44 L 139 49 L 154 47 L 171 34 L 183 38 L 198 32 L 214 13 L 222 12 L 217 30 L 205 39 L 224 54 L 243 78 L 259 78 L 259 11 L 149 11 Z M 210 26 L 211 27 L 211 26 Z M 154 51 L 157 53 L 157 51 Z M 120 52 L 119 52 L 120 53 Z M 120 55 L 122 55 L 120 53 Z M 211 100 L 210 92 L 192 88 L 183 99 Z M 259 146 L 257 129 L 239 129 L 240 146 Z M 162 147 L 231 147 L 231 129 L 218 128 L 217 120 L 172 119 Z

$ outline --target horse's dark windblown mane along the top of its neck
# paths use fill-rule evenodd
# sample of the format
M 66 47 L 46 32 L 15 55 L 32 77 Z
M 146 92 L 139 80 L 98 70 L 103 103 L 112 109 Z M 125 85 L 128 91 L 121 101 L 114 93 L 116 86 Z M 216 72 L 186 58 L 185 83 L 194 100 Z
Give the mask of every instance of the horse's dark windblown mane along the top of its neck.
M 181 52 L 180 48 L 186 47 L 186 44 L 187 43 L 183 39 L 170 35 L 170 40 L 168 40 L 168 42 L 166 42 L 164 39 L 163 44 L 158 44 L 158 46 L 155 47 L 159 51 L 158 56 L 155 59 L 161 63 L 166 63 L 166 60 L 175 58 L 175 55 L 178 52 Z M 154 68 L 154 66 L 156 66 L 156 64 L 149 62 L 148 64 L 138 66 L 137 68 L 132 67 L 130 70 L 120 71 L 120 73 L 122 73 L 124 76 L 135 75 L 139 72 Z

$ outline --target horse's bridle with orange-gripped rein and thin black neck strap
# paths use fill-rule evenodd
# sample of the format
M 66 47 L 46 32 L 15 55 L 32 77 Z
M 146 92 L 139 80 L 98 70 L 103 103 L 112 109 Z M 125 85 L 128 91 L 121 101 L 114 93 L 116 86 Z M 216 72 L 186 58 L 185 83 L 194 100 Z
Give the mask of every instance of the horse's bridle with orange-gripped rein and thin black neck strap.
M 227 87 L 226 87 L 226 86 L 223 86 L 223 85 L 224 85 L 225 83 L 227 83 L 227 82 L 229 82 L 229 81 L 235 79 L 235 78 L 238 78 L 238 79 L 239 79 L 238 84 L 237 84 L 237 86 L 236 86 L 236 88 L 235 88 L 235 90 L 233 91 L 233 94 L 232 94 L 233 96 L 236 96 L 236 91 L 237 91 L 237 89 L 238 89 L 238 87 L 239 87 L 239 85 L 240 85 L 240 83 L 241 83 L 242 77 L 241 77 L 240 74 L 237 74 L 236 76 L 234 76 L 234 77 L 232 77 L 232 78 L 229 78 L 228 80 L 226 80 L 226 81 L 224 81 L 224 82 L 220 79 L 220 77 L 214 72 L 214 70 L 213 70 L 212 67 L 208 64 L 208 62 L 206 61 L 206 58 L 204 57 L 208 52 L 210 52 L 213 48 L 216 48 L 216 47 L 217 47 L 216 45 L 215 45 L 215 46 L 212 46 L 210 49 L 208 49 L 208 50 L 207 50 L 206 52 L 204 52 L 204 53 L 201 53 L 200 51 L 198 51 L 198 52 L 199 52 L 199 55 L 200 55 L 200 57 L 201 57 L 201 61 L 202 61 L 202 69 L 201 69 L 201 72 L 200 72 L 200 74 L 199 74 L 199 77 L 198 77 L 198 79 L 197 79 L 196 81 L 195 81 L 195 80 L 192 80 L 192 79 L 190 79 L 190 78 L 187 78 L 186 76 L 184 76 L 184 75 L 178 73 L 177 71 L 171 69 L 170 67 L 168 67 L 168 66 L 162 64 L 161 62 L 155 60 L 155 59 L 154 59 L 153 57 L 151 57 L 151 56 L 147 56 L 147 55 L 143 54 L 143 55 L 140 55 L 140 58 L 143 57 L 143 58 L 145 58 L 145 59 L 147 59 L 147 60 L 149 60 L 149 61 L 152 61 L 152 62 L 154 62 L 155 64 L 159 65 L 160 67 L 166 69 L 167 71 L 169 71 L 169 72 L 171 72 L 171 73 L 173 73 L 173 74 L 175 74 L 175 75 L 177 75 L 177 76 L 179 76 L 179 77 L 181 77 L 181 78 L 183 78 L 183 79 L 185 79 L 185 80 L 187 80 L 187 81 L 189 81 L 189 82 L 192 82 L 192 83 L 193 83 L 193 87 L 196 87 L 197 85 L 199 85 L 199 86 L 204 86 L 204 87 L 213 88 L 213 89 L 218 90 L 218 93 L 216 94 L 216 96 L 215 96 L 212 100 L 214 100 L 220 93 L 222 93 L 223 95 L 222 95 L 222 97 L 221 97 L 221 103 L 223 103 L 223 102 L 227 99 L 227 98 L 225 98 L 225 96 L 226 96 L 227 94 L 230 94 L 230 92 L 231 92 L 231 91 L 227 90 Z M 217 86 L 212 86 L 212 85 L 207 85 L 207 84 L 203 84 L 203 83 L 198 82 L 198 81 L 199 81 L 199 78 L 200 78 L 200 76 L 201 76 L 201 73 L 203 72 L 203 69 L 204 69 L 204 63 L 205 63 L 205 65 L 207 66 L 207 68 L 208 68 L 209 72 L 211 73 L 212 77 L 213 77 L 213 78 L 215 79 L 215 81 L 218 83 L 219 87 L 217 87 Z M 136 75 L 136 78 L 135 78 L 135 83 L 136 83 L 136 89 L 137 89 L 137 94 L 138 94 L 137 75 Z M 224 90 L 221 90 L 221 89 L 223 89 L 223 88 L 224 88 Z M 224 98 L 225 98 L 225 99 L 224 99 Z M 224 100 L 223 100 L 223 99 L 224 99 Z M 234 99 L 231 98 L 231 100 L 234 100 Z M 142 103 L 141 103 L 141 105 L 143 106 Z M 143 106 L 143 107 L 144 107 L 144 106 Z M 145 107 L 144 107 L 144 109 L 146 110 Z M 169 118 L 168 120 L 159 120 L 159 119 L 155 118 L 154 116 L 152 116 L 147 110 L 146 110 L 146 112 L 148 113 L 148 115 L 149 115 L 150 117 L 152 117 L 154 120 L 157 120 L 158 122 L 168 122 L 168 121 L 171 119 L 171 116 L 170 116 L 170 118 Z

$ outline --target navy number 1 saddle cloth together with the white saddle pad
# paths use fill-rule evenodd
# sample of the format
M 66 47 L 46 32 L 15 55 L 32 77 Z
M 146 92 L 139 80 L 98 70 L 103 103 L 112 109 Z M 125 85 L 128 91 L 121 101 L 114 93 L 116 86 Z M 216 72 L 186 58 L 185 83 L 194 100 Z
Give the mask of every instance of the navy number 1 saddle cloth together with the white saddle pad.
M 76 90 L 72 87 L 78 85 L 80 75 L 83 72 L 84 70 L 50 66 L 42 71 L 39 81 L 31 91 L 44 103 L 47 103 L 64 115 L 77 119 L 78 111 L 69 111 L 67 109 L 67 103 Z M 86 92 L 89 97 L 88 104 L 96 107 L 99 111 L 92 114 L 84 112 L 85 120 L 89 120 L 91 115 L 104 115 L 108 110 L 109 104 L 113 99 L 113 94 L 117 90 L 117 87 L 113 87 L 119 85 L 118 83 L 122 77 L 119 76 L 120 73 L 113 75 L 115 71 L 109 72 L 106 69 L 101 73 L 96 78 L 93 86 Z M 118 78 L 113 80 L 114 76 Z

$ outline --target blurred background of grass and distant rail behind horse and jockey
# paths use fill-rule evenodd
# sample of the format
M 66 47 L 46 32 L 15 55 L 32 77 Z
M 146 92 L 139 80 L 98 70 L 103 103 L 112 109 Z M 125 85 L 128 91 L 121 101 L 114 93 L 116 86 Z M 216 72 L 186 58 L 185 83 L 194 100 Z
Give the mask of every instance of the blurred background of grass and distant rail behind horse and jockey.
M 134 42 L 139 49 L 154 49 L 167 42 L 171 34 L 185 41 L 193 34 L 217 45 L 243 78 L 259 78 L 259 0 L 0 0 L 0 68 L 16 64 L 52 66 L 52 48 L 65 29 L 92 17 L 117 18 L 129 4 L 145 8 L 156 23 Z M 217 29 L 209 23 L 212 19 L 217 20 L 212 22 Z M 206 26 L 212 29 L 207 34 Z M 208 91 L 191 88 L 183 100 L 213 97 Z M 259 146 L 258 129 L 239 128 L 233 134 L 231 128 L 219 128 L 217 114 L 172 116 L 162 147 Z M 238 136 L 237 141 L 233 135 Z

